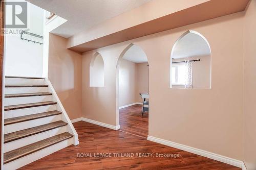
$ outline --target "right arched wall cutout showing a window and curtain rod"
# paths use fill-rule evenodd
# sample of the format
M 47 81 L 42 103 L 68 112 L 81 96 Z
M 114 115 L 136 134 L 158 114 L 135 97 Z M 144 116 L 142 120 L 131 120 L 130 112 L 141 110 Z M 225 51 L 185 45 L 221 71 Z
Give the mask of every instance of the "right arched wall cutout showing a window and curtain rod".
M 210 45 L 200 33 L 189 30 L 182 34 L 170 61 L 170 88 L 211 88 Z

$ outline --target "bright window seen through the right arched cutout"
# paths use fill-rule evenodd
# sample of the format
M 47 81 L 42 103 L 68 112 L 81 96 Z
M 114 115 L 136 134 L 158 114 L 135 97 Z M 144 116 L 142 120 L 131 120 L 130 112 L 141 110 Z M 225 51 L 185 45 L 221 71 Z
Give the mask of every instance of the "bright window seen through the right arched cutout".
M 186 67 L 185 64 L 172 65 L 172 83 L 173 85 L 185 85 Z

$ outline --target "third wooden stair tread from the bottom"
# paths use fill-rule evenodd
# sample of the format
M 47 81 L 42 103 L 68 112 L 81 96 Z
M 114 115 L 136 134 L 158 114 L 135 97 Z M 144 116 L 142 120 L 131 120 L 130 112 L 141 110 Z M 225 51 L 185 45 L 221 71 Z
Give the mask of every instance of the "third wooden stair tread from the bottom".
M 5 119 L 5 125 L 16 124 L 16 123 L 25 122 L 28 120 L 34 120 L 37 118 L 49 117 L 49 116 L 54 116 L 54 115 L 58 115 L 58 114 L 61 114 L 61 112 L 54 110 L 54 111 L 30 114 L 30 115 L 25 115 L 25 116 L 7 118 L 7 119 Z

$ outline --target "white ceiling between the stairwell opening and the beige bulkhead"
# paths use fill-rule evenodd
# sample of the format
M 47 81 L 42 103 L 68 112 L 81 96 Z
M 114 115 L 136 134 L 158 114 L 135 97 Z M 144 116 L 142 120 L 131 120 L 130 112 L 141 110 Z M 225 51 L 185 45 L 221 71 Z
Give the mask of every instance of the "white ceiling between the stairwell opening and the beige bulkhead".
M 68 21 L 52 33 L 68 38 L 151 0 L 29 0 Z

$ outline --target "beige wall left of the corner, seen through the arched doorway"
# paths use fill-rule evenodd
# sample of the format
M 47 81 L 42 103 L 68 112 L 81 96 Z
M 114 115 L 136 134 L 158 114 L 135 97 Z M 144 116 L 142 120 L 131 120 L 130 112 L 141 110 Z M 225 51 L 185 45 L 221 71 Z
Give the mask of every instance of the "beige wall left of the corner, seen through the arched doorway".
M 120 59 L 119 64 L 119 107 L 136 103 L 136 63 Z

